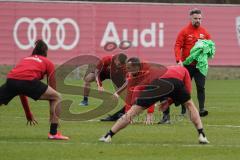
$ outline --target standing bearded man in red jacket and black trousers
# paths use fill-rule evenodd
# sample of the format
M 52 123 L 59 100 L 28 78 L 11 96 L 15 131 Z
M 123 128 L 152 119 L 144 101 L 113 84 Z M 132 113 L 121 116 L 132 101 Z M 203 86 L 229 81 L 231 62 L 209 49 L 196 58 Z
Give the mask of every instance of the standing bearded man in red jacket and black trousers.
M 210 39 L 210 34 L 201 27 L 202 14 L 199 9 L 190 11 L 191 22 L 184 27 L 178 34 L 175 43 L 175 57 L 179 65 L 183 65 L 185 59 L 190 55 L 190 50 L 198 41 L 198 39 Z M 197 98 L 199 103 L 199 114 L 201 117 L 207 116 L 208 111 L 205 110 L 205 80 L 206 77 L 196 68 L 196 61 L 184 67 L 189 71 L 191 79 L 194 78 L 197 87 Z M 182 108 L 182 114 L 186 109 Z

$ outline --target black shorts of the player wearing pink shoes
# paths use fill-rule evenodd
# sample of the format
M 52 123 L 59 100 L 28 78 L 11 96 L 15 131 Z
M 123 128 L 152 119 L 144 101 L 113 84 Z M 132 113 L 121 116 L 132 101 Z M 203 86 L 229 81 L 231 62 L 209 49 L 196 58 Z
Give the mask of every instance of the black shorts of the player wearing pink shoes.
M 48 85 L 40 80 L 7 79 L 6 83 L 0 87 L 0 105 L 7 105 L 17 95 L 38 100 L 47 88 Z

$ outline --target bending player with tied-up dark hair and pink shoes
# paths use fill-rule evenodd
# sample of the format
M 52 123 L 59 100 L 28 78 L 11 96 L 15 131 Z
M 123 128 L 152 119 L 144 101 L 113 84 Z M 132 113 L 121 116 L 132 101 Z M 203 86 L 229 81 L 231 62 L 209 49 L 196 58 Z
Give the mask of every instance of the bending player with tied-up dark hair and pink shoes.
M 49 139 L 68 140 L 57 131 L 60 116 L 61 95 L 56 91 L 54 65 L 47 57 L 48 46 L 42 40 L 35 42 L 32 55 L 23 58 L 7 75 L 6 82 L 0 87 L 0 105 L 7 105 L 15 96 L 21 95 L 21 101 L 27 116 L 30 109 L 27 97 L 34 100 L 48 100 L 50 103 Z M 40 80 L 47 75 L 48 85 Z M 30 118 L 31 119 L 31 118 Z M 34 119 L 34 118 L 33 118 Z M 35 121 L 32 121 L 35 123 Z

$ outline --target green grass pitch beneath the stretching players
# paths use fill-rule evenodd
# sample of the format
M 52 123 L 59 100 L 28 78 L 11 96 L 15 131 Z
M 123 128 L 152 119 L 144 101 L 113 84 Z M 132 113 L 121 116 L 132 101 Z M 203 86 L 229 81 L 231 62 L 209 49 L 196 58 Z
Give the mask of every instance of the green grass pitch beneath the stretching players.
M 2 84 L 3 82 L 1 82 Z M 78 81 L 68 81 L 78 84 Z M 104 85 L 107 89 L 108 83 Z M 240 80 L 208 80 L 206 106 L 209 116 L 202 118 L 209 145 L 199 145 L 197 133 L 187 117 L 179 117 L 180 108 L 172 106 L 171 125 L 156 124 L 161 114 L 155 112 L 155 124 L 144 125 L 144 115 L 136 123 L 114 136 L 111 144 L 98 142 L 98 138 L 113 125 L 112 122 L 61 121 L 60 130 L 70 136 L 69 141 L 50 141 L 48 103 L 30 101 L 38 120 L 37 126 L 26 126 L 23 109 L 18 98 L 8 106 L 0 107 L 0 159 L 1 160 L 226 160 L 240 157 Z M 193 99 L 196 92 L 193 88 Z M 81 96 L 67 96 L 74 104 L 74 113 L 93 109 L 99 100 L 91 99 L 91 106 L 81 108 Z M 120 108 L 122 102 L 119 103 Z M 113 113 L 114 111 L 110 112 Z M 103 116 L 104 117 L 104 116 Z

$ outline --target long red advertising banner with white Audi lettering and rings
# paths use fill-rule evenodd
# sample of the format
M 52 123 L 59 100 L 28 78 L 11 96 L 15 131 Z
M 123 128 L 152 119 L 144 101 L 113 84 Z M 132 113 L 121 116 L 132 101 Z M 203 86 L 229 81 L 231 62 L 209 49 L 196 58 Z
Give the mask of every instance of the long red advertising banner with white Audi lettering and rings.
M 189 23 L 188 11 L 203 12 L 202 26 L 216 44 L 210 65 L 240 65 L 240 6 L 144 3 L 0 2 L 0 64 L 16 64 L 30 55 L 37 39 L 61 64 L 79 55 L 116 54 L 107 42 L 132 42 L 129 56 L 175 64 L 178 32 Z

